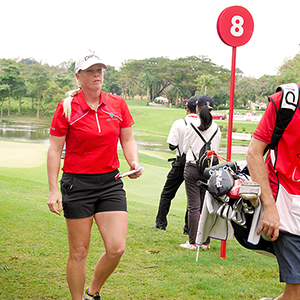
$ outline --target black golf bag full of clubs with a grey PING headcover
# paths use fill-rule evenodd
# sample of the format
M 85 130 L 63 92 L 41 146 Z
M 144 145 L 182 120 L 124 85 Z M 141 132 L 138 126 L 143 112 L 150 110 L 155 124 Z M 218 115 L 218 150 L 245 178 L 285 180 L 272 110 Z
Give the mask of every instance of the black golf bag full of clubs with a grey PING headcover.
M 258 253 L 275 256 L 270 238 L 263 234 L 256 236 L 257 244 L 249 242 L 250 230 L 255 223 L 254 213 L 256 209 L 261 209 L 261 204 L 260 187 L 251 181 L 247 166 L 241 169 L 236 162 L 224 162 L 206 168 L 204 176 L 208 182 L 199 180 L 197 185 L 211 194 L 212 201 L 218 202 L 217 215 L 231 223 L 234 237 L 239 244 Z M 257 211 L 255 216 L 259 214 L 260 211 Z M 260 218 L 257 221 L 260 222 Z

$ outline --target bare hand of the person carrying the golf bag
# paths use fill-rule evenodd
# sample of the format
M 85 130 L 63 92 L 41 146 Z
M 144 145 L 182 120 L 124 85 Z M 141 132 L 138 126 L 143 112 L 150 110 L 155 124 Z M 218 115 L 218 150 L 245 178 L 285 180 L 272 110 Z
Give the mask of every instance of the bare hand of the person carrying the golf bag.
M 264 207 L 260 226 L 257 230 L 259 235 L 261 231 L 265 233 L 266 236 L 271 236 L 271 240 L 274 242 L 279 236 L 279 215 L 275 202 L 267 207 Z

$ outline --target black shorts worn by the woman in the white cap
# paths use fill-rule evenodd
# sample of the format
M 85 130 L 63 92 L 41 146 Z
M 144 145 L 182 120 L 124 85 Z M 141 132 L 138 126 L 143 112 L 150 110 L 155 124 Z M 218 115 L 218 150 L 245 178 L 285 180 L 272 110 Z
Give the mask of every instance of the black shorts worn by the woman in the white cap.
M 126 193 L 118 170 L 106 174 L 63 173 L 60 188 L 64 216 L 91 217 L 104 211 L 127 211 Z

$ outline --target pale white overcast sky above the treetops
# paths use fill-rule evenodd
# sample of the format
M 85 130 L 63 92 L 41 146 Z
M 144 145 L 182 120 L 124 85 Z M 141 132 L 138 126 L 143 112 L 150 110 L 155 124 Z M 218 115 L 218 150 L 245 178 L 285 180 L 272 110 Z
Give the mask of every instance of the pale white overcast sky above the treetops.
M 299 52 L 299 1 L 5 1 L 0 58 L 58 65 L 91 49 L 115 67 L 128 59 L 205 55 L 230 69 L 232 48 L 220 40 L 216 23 L 233 5 L 254 19 L 252 38 L 237 48 L 236 66 L 247 76 L 276 74 Z

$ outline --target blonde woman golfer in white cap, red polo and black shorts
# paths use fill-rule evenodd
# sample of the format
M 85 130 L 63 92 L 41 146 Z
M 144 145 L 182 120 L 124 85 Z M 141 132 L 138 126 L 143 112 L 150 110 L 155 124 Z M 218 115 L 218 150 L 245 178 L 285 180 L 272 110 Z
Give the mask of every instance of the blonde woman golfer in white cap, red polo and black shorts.
M 139 168 L 138 149 L 131 129 L 133 119 L 122 97 L 102 91 L 103 69 L 107 66 L 93 53 L 76 62 L 75 75 L 80 89 L 69 92 L 58 104 L 50 129 L 48 206 L 58 215 L 63 208 L 66 218 L 67 281 L 73 300 L 101 299 L 100 289 L 125 250 L 127 207 L 123 183 L 118 178 L 118 140 L 130 170 Z M 64 145 L 61 199 L 57 181 Z M 130 178 L 141 175 L 139 171 Z M 85 289 L 85 263 L 94 219 L 105 252 Z

